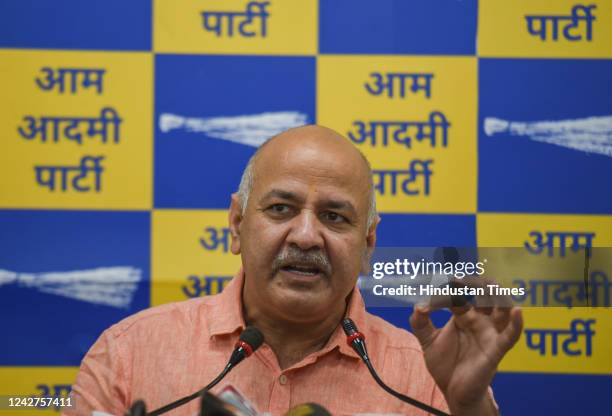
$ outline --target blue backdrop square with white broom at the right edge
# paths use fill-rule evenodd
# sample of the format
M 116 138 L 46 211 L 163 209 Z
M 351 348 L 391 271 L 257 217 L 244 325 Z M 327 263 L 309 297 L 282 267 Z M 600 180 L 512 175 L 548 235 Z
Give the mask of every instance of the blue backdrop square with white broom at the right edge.
M 479 66 L 479 211 L 612 213 L 612 61 Z

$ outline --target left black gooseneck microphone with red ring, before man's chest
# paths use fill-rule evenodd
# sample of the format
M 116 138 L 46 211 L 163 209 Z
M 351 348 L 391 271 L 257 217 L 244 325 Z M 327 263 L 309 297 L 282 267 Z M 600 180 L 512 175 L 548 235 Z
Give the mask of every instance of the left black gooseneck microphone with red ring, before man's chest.
M 182 399 L 178 399 L 177 401 L 160 407 L 157 410 L 153 410 L 147 416 L 161 415 L 162 413 L 166 413 L 201 396 L 207 390 L 210 390 L 215 387 L 221 380 L 223 380 L 223 377 L 225 377 L 232 368 L 238 365 L 246 357 L 253 354 L 255 350 L 257 350 L 257 348 L 261 346 L 261 344 L 263 344 L 263 334 L 261 333 L 261 331 L 255 328 L 254 326 L 246 327 L 245 330 L 242 331 L 242 333 L 240 334 L 240 339 L 238 339 L 238 342 L 236 342 L 236 346 L 234 347 L 234 351 L 232 352 L 232 355 L 230 356 L 227 365 L 213 381 L 208 383 L 208 385 L 203 389 L 198 390 L 195 393 L 190 394 L 189 396 L 185 396 Z

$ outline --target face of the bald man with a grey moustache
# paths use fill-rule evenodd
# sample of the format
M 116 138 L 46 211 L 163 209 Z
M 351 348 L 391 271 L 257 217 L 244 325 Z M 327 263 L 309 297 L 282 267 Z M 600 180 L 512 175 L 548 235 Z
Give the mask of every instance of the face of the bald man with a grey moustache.
M 232 204 L 232 251 L 242 254 L 244 302 L 255 313 L 307 322 L 344 310 L 375 241 L 365 164 L 345 146 L 271 143 L 238 220 Z

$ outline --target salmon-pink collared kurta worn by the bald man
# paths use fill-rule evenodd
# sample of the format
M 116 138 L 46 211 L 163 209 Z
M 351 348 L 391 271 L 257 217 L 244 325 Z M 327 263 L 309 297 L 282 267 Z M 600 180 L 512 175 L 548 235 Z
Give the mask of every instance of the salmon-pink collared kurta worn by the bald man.
M 137 399 L 151 411 L 201 389 L 223 369 L 244 328 L 243 281 L 239 272 L 219 295 L 147 309 L 106 330 L 83 359 L 73 388 L 75 407 L 63 414 L 123 415 Z M 357 290 L 347 316 L 365 334 L 374 367 L 388 385 L 448 410 L 412 334 L 367 313 Z M 322 350 L 285 370 L 264 343 L 212 392 L 228 384 L 272 415 L 307 402 L 334 415 L 425 415 L 376 384 L 340 327 Z M 167 414 L 192 416 L 198 407 L 196 400 Z

